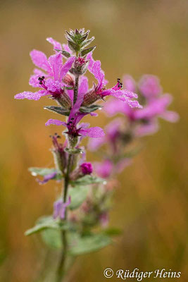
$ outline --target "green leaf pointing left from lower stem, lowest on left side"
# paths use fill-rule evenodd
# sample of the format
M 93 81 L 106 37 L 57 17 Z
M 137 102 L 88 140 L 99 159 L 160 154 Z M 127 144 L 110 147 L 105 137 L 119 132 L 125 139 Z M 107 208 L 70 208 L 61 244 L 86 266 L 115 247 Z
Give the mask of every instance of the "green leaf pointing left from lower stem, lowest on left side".
M 41 232 L 46 228 L 67 229 L 68 226 L 61 221 L 54 220 L 51 216 L 43 216 L 37 221 L 36 225 L 33 228 L 30 228 L 25 232 L 25 235 L 28 236 L 37 232 Z

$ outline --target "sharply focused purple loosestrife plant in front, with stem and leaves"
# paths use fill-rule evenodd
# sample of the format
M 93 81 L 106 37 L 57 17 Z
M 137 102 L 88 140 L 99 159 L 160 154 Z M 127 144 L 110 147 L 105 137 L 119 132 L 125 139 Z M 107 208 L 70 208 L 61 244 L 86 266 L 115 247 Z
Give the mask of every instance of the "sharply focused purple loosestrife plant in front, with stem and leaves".
M 101 62 L 94 61 L 92 57 L 95 47 L 87 47 L 94 37 L 88 39 L 88 36 L 89 31 L 85 32 L 84 29 L 70 30 L 65 34 L 68 44 L 63 46 L 51 37 L 47 38 L 54 47 L 54 55 L 47 59 L 42 51 L 33 50 L 30 53 L 37 68 L 29 83 L 37 87 L 37 91 L 15 95 L 15 99 L 36 101 L 48 96 L 56 104 L 45 106 L 44 109 L 58 114 L 60 118 L 50 118 L 46 125 L 63 125 L 62 128 L 65 128 L 63 142 L 57 133 L 51 136 L 54 168 L 30 168 L 33 176 L 43 176 L 42 180 L 37 178 L 39 184 L 49 180 L 62 183 L 61 195 L 54 203 L 53 215 L 43 216 L 34 228 L 26 231 L 26 235 L 41 233 L 46 245 L 61 250 L 56 271 L 57 282 L 62 281 L 71 257 L 99 250 L 111 243 L 110 232 L 96 232 L 94 227 L 108 223 L 112 186 L 94 176 L 92 164 L 86 161 L 81 142 L 84 137 L 96 138 L 99 140 L 97 142 L 108 139 L 116 142 L 118 133 L 115 128 L 111 132 L 107 130 L 105 137 L 102 128 L 89 128 L 89 123 L 80 121 L 88 114 L 96 116 L 94 111 L 101 109 L 101 105 L 95 103 L 108 96 L 115 97 L 129 108 L 142 108 L 136 100 L 137 94 L 123 89 L 120 79 L 114 87 L 106 87 L 108 81 L 101 70 Z M 97 81 L 90 89 L 85 76 L 87 71 Z

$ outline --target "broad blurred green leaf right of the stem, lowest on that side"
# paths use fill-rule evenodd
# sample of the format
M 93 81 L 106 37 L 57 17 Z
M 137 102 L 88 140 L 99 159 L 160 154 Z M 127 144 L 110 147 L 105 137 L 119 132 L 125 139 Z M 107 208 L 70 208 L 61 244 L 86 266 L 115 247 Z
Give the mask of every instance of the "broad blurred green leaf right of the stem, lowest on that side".
M 90 234 L 81 237 L 76 233 L 70 233 L 68 240 L 70 245 L 70 255 L 82 255 L 88 252 L 96 252 L 112 243 L 111 238 L 104 234 Z

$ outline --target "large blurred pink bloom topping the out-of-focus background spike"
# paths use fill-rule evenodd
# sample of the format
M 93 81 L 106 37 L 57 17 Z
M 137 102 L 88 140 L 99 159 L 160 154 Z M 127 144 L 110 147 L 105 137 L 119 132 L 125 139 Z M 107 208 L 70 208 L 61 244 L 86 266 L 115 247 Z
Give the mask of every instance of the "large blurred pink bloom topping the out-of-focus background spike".
M 125 75 L 123 82 L 127 88 L 136 90 L 136 82 L 130 75 Z M 145 99 L 143 109 L 132 109 L 120 100 L 108 101 L 104 106 L 104 111 L 109 116 L 122 113 L 134 123 L 135 135 L 148 135 L 156 133 L 158 130 L 157 118 L 163 118 L 170 122 L 176 122 L 178 114 L 168 111 L 167 108 L 172 102 L 170 94 L 162 94 L 162 87 L 158 78 L 154 75 L 144 75 L 138 83 L 140 95 Z M 150 93 L 150 94 L 149 94 Z

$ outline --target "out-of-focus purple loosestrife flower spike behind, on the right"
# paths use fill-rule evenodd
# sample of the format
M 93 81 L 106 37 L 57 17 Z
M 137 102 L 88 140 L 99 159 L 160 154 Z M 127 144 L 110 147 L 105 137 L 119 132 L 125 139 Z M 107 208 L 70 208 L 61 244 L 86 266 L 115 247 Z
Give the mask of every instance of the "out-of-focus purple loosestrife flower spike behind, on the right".
M 125 75 L 123 84 L 127 90 L 139 94 L 143 108 L 133 109 L 115 99 L 106 102 L 104 111 L 108 116 L 123 114 L 123 118 L 115 118 L 106 125 L 104 137 L 89 141 L 91 151 L 98 151 L 107 145 L 104 160 L 94 164 L 96 173 L 102 178 L 120 173 L 131 164 L 132 157 L 139 149 L 135 147 L 135 142 L 145 135 L 156 133 L 158 118 L 170 122 L 176 122 L 179 118 L 174 111 L 168 111 L 172 96 L 163 94 L 163 88 L 155 75 L 143 75 L 138 83 L 130 75 Z M 132 146 L 134 149 L 130 151 Z

